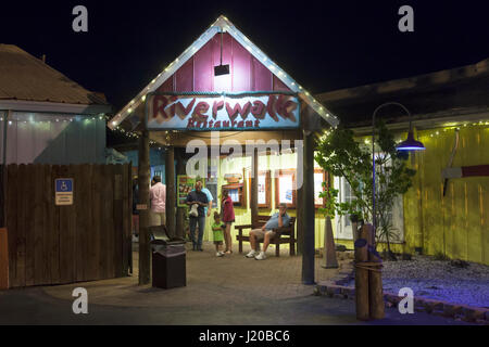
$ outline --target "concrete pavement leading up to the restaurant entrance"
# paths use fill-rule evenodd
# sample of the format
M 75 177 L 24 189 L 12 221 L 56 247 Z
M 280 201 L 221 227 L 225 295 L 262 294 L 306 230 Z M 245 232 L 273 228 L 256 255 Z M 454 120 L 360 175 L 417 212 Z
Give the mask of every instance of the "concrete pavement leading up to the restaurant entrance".
M 138 286 L 134 277 L 60 286 L 0 292 L 0 324 L 465 324 L 426 313 L 358 322 L 353 300 L 313 296 L 301 283 L 301 257 L 247 259 L 237 253 L 217 258 L 211 244 L 187 254 L 187 286 L 173 290 Z M 136 254 L 137 256 L 137 254 Z M 338 270 L 323 269 L 316 281 Z M 137 257 L 134 260 L 137 265 Z M 341 262 L 340 262 L 341 265 Z M 72 311 L 73 288 L 88 291 L 88 314 Z

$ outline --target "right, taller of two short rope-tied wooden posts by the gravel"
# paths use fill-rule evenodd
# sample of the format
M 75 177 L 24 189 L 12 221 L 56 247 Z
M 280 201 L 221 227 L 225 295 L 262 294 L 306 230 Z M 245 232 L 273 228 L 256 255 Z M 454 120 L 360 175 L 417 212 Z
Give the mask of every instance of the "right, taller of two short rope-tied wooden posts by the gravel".
M 372 224 L 364 227 L 367 230 L 367 247 L 368 247 L 368 262 L 378 262 L 379 267 L 373 267 L 368 271 L 368 306 L 371 319 L 383 319 L 384 311 L 384 294 L 383 294 L 383 273 L 380 266 L 383 259 L 375 250 L 375 231 Z

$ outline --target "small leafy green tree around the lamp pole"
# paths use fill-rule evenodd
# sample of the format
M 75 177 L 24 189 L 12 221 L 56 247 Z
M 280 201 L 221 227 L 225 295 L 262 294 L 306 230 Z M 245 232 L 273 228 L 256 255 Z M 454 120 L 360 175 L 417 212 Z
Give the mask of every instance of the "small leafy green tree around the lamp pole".
M 376 150 L 376 182 L 375 182 L 375 218 L 376 241 L 386 241 L 389 254 L 392 226 L 390 213 L 394 200 L 404 194 L 412 185 L 415 170 L 408 168 L 408 153 L 398 152 L 393 134 L 383 121 L 377 124 L 378 133 Z M 334 210 L 340 216 L 347 214 L 361 219 L 373 221 L 372 202 L 372 146 L 364 145 L 354 139 L 353 131 L 349 129 L 335 129 L 326 132 L 318 141 L 316 163 L 330 175 L 343 177 L 350 184 L 353 195 L 351 202 L 338 203 L 338 192 L 325 192 L 326 200 L 334 202 L 328 206 L 328 214 Z

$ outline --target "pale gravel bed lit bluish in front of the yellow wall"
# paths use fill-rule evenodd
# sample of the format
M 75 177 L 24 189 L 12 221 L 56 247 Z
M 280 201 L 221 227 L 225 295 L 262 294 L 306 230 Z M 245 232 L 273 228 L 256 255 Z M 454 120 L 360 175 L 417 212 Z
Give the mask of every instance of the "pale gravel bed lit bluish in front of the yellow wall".
M 394 294 L 411 287 L 415 296 L 489 308 L 489 267 L 480 264 L 460 268 L 450 260 L 423 256 L 385 261 L 383 285 L 385 292 Z

